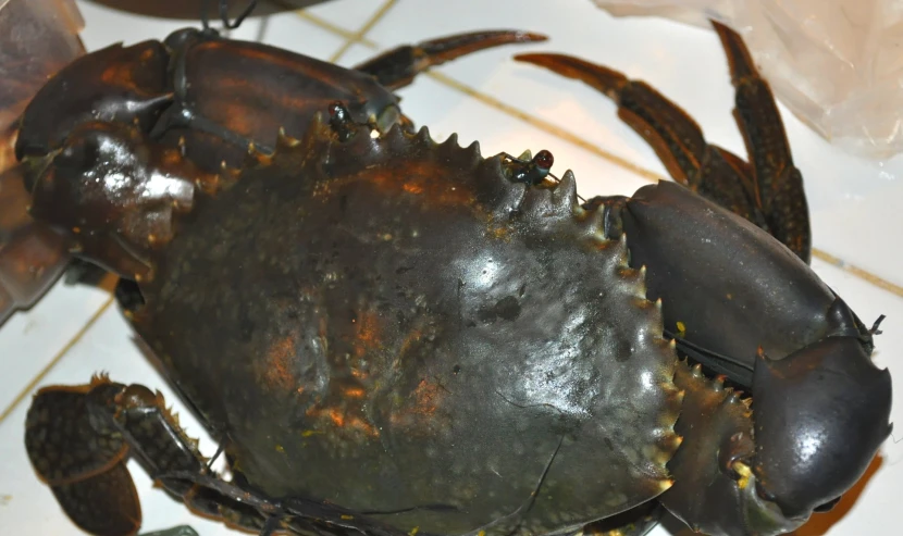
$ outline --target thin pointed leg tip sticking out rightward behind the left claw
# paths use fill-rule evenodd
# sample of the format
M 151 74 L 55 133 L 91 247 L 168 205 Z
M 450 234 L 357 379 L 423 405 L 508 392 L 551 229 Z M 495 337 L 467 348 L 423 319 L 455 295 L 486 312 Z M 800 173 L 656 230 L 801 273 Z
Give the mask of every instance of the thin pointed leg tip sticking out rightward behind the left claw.
M 389 89 L 400 89 L 413 82 L 423 71 L 456 58 L 502 45 L 546 39 L 540 34 L 516 29 L 458 34 L 397 47 L 354 68 L 375 76 L 380 84 Z

